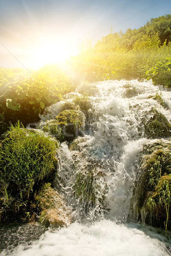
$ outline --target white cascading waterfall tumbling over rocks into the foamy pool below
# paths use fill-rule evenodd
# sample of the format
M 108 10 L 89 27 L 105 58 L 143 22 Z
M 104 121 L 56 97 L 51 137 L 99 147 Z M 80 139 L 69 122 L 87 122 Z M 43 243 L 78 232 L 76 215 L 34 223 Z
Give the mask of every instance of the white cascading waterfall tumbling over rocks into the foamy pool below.
M 94 95 L 87 97 L 88 107 L 81 109 L 86 116 L 84 134 L 58 149 L 56 188 L 72 206 L 72 224 L 49 229 L 27 250 L 19 245 L 8 255 L 171 255 L 162 230 L 127 223 L 135 180 L 141 175 L 143 146 L 157 140 L 148 139 L 145 123 L 153 109 L 171 121 L 171 92 L 151 81 L 136 80 L 94 83 L 90 94 L 92 87 Z M 39 127 L 54 119 L 62 104 L 81 96 L 79 91 L 80 87 L 47 108 Z M 160 93 L 162 105 L 155 99 Z

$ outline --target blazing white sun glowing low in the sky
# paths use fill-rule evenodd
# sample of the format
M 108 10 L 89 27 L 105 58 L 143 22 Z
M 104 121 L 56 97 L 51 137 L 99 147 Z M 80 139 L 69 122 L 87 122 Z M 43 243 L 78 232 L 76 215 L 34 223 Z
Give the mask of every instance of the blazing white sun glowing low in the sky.
M 70 38 L 43 38 L 32 49 L 32 67 L 40 68 L 45 64 L 61 63 L 78 53 L 77 42 Z

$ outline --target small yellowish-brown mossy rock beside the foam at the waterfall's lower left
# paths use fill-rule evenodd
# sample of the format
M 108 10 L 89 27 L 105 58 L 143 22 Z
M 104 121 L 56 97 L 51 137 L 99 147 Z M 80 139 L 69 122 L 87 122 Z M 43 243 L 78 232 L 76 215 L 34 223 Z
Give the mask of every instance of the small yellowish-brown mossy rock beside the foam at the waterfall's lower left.
M 38 206 L 41 208 L 40 222 L 46 226 L 67 227 L 71 224 L 71 207 L 51 184 L 43 186 L 39 193 Z

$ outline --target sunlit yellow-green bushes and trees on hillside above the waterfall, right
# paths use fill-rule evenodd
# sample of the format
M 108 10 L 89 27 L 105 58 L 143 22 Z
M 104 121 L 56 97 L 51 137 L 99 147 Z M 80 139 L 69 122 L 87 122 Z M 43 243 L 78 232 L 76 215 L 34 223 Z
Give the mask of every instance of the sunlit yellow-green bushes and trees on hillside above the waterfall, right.
M 156 21 L 159 26 L 156 26 Z M 165 66 L 165 58 L 171 58 L 171 31 L 167 26 L 170 23 L 171 15 L 165 15 L 151 19 L 139 29 L 127 29 L 125 33 L 111 32 L 70 60 L 72 73 L 89 82 L 151 78 L 148 71 L 159 62 Z M 168 67 L 167 63 L 161 71 L 164 77 L 161 81 L 154 79 L 154 83 L 170 86 Z M 161 64 L 159 69 L 162 68 Z

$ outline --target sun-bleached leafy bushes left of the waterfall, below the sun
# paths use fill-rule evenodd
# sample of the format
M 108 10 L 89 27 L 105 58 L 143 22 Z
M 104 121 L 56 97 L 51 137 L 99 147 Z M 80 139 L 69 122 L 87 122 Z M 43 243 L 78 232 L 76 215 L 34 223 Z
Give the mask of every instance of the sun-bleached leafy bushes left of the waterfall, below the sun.
M 0 69 L 0 112 L 6 123 L 19 119 L 23 125 L 37 122 L 44 108 L 73 89 L 70 77 L 55 65 L 38 71 Z M 3 132 L 3 131 L 2 131 Z

